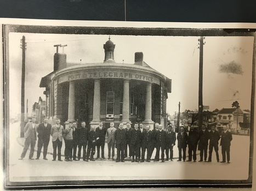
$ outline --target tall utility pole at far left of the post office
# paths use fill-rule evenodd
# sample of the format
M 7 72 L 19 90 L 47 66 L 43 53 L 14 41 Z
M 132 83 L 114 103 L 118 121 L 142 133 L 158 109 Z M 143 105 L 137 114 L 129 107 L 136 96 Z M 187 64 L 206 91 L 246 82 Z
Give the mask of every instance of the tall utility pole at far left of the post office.
M 21 39 L 22 49 L 22 67 L 21 67 L 21 116 L 20 116 L 20 137 L 24 138 L 24 126 L 25 126 L 25 60 L 26 60 L 26 43 L 25 36 Z

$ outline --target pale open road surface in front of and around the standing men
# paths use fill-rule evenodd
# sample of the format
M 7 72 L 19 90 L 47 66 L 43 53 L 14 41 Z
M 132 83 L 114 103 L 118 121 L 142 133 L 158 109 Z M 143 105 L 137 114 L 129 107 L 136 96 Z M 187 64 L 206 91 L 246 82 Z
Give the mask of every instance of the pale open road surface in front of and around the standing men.
M 64 180 L 247 180 L 249 169 L 249 137 L 233 135 L 231 163 L 151 162 L 115 163 L 109 160 L 95 162 L 53 162 L 49 160 L 18 160 L 22 146 L 19 142 L 19 124 L 10 125 L 9 178 L 10 181 L 64 181 Z M 24 141 L 24 140 L 23 140 Z M 174 147 L 174 156 L 178 156 Z M 52 152 L 52 144 L 49 144 Z M 221 153 L 220 159 L 221 159 Z M 36 152 L 35 155 L 36 156 Z

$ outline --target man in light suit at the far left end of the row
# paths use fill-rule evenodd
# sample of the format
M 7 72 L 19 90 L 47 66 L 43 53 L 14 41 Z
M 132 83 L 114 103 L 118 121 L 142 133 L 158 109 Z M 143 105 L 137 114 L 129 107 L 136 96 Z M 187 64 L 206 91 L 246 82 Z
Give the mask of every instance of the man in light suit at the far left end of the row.
M 37 124 L 36 124 L 36 117 L 32 117 L 32 122 L 27 123 L 25 128 L 24 128 L 24 133 L 25 133 L 25 143 L 24 143 L 24 148 L 21 153 L 21 156 L 19 160 L 22 160 L 27 153 L 27 150 L 29 149 L 30 146 L 30 155 L 29 159 L 33 160 L 33 154 L 35 151 L 35 145 L 36 145 L 36 129 L 37 129 Z

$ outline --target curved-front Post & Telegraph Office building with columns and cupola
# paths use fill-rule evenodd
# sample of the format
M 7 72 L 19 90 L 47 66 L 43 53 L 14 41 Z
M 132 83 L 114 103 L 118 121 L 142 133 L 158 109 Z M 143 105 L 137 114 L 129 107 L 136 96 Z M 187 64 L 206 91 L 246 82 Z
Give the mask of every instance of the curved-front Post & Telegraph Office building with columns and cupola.
M 142 121 L 144 126 L 158 122 L 166 126 L 167 93 L 171 80 L 143 61 L 143 52 L 135 52 L 135 63 L 116 63 L 115 44 L 104 44 L 103 63 L 69 63 L 66 54 L 54 54 L 54 71 L 41 79 L 46 96 L 46 116 L 85 121 L 109 127 L 110 122 Z

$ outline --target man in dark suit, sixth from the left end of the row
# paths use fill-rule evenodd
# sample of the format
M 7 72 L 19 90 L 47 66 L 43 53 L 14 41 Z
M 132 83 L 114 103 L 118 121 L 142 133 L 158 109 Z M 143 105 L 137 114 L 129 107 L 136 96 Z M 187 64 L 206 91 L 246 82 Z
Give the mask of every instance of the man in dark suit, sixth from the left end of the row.
M 81 128 L 79 128 L 78 131 L 78 154 L 77 158 L 78 160 L 81 159 L 81 150 L 83 147 L 83 161 L 86 160 L 86 146 L 88 141 L 88 129 L 86 128 L 86 122 L 81 122 Z

